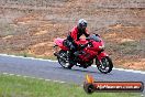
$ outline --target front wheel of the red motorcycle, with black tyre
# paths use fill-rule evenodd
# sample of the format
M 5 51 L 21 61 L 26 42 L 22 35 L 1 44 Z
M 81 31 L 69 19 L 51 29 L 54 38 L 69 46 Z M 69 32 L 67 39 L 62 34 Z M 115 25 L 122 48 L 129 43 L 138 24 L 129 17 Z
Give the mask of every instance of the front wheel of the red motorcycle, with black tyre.
M 113 63 L 109 56 L 101 58 L 101 64 L 98 66 L 98 69 L 101 73 L 108 74 L 112 71 L 112 68 L 113 68 Z

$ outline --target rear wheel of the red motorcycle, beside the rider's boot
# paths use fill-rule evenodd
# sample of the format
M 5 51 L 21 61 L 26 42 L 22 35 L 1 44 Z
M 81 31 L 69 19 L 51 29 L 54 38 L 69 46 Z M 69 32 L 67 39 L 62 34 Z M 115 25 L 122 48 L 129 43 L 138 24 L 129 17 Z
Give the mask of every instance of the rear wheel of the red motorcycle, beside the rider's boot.
M 62 57 L 66 58 L 66 61 L 64 61 L 64 60 L 57 57 L 58 63 L 59 63 L 64 68 L 69 68 L 69 69 L 71 69 L 71 67 L 72 67 L 74 65 L 70 65 L 70 64 L 69 64 L 67 51 L 60 50 L 60 51 L 59 51 L 59 55 L 60 55 Z

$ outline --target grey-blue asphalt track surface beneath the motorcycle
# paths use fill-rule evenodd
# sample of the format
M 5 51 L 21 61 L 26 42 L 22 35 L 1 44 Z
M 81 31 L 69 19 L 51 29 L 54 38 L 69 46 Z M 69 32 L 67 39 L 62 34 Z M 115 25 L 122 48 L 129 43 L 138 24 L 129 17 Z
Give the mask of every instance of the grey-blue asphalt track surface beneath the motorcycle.
M 81 84 L 85 82 L 86 75 L 90 74 L 99 82 L 143 82 L 145 83 L 145 72 L 134 73 L 113 69 L 109 74 L 101 74 L 96 67 L 72 69 L 63 68 L 57 62 L 33 60 L 23 57 L 12 57 L 0 55 L 0 74 L 15 74 L 22 76 L 31 76 L 51 80 Z

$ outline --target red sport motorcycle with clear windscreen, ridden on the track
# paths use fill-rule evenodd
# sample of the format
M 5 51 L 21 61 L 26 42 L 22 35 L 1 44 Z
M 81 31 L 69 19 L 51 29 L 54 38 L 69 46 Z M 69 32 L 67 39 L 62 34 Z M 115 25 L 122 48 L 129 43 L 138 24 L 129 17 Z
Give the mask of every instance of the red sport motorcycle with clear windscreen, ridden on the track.
M 75 52 L 74 64 L 69 64 L 69 48 L 65 39 L 54 40 L 55 52 L 54 55 L 57 56 L 58 63 L 64 68 L 71 68 L 74 65 L 87 68 L 92 64 L 96 64 L 101 73 L 110 73 L 113 68 L 112 60 L 104 52 L 104 43 L 98 34 L 91 34 L 87 39 L 79 40 L 78 51 Z

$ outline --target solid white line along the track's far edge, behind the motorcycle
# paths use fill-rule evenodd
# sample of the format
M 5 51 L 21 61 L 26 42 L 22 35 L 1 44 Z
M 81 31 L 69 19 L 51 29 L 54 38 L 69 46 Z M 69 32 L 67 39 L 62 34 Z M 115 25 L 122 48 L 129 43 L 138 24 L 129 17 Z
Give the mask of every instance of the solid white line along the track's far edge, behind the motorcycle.
M 43 61 L 43 62 L 57 62 L 57 61 L 52 61 L 52 60 L 43 60 L 43 58 L 34 58 L 34 57 L 23 57 L 23 56 L 8 55 L 8 54 L 0 54 L 0 56 L 24 58 L 24 60 L 33 60 L 33 61 Z M 96 67 L 96 65 L 92 65 L 92 67 Z M 143 71 L 124 69 L 124 68 L 113 68 L 113 69 L 115 69 L 115 71 L 123 71 L 123 72 L 130 72 L 130 73 L 145 74 L 145 72 L 143 72 Z

